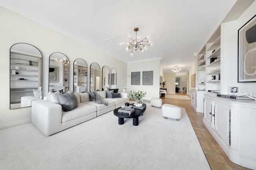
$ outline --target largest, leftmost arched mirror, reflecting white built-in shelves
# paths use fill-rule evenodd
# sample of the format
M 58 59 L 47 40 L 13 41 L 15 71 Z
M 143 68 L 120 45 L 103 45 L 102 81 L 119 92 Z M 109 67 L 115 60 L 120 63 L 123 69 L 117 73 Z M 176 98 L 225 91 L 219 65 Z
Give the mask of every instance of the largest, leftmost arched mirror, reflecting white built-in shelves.
M 10 109 L 31 106 L 42 99 L 42 53 L 33 45 L 10 48 Z

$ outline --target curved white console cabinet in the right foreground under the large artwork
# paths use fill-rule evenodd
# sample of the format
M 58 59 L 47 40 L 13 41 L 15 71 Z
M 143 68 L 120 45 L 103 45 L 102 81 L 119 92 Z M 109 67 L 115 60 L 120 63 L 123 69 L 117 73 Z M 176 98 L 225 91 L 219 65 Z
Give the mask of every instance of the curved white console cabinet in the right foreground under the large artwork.
M 203 123 L 228 158 L 256 169 L 256 101 L 204 94 Z

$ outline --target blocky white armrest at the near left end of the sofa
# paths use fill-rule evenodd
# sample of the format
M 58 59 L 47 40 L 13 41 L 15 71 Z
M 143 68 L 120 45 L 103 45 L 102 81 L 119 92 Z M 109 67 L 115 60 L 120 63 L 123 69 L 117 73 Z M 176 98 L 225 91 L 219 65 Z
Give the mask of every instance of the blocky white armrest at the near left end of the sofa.
M 31 121 L 46 136 L 60 132 L 62 107 L 48 100 L 33 101 Z

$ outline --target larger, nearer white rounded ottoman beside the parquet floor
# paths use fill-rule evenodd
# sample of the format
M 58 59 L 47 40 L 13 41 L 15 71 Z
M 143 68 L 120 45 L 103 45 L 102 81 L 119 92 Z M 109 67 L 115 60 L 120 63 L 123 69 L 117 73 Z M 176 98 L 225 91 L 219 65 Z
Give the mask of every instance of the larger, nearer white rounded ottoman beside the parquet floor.
M 162 115 L 164 116 L 164 119 L 167 119 L 167 117 L 169 117 L 172 119 L 176 119 L 176 121 L 179 121 L 181 118 L 181 108 L 171 104 L 163 104 Z

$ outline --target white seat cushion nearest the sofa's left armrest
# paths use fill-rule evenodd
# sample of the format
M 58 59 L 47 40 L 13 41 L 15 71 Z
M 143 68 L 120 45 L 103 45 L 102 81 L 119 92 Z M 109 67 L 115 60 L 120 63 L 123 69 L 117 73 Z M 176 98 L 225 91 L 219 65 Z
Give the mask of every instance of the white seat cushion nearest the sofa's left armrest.
M 78 103 L 78 107 L 71 111 L 62 111 L 62 122 L 70 121 L 72 119 L 76 119 L 78 117 L 88 115 L 94 111 L 97 111 L 97 107 L 85 104 L 85 103 Z

